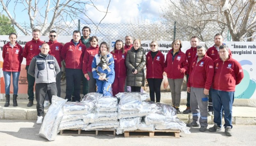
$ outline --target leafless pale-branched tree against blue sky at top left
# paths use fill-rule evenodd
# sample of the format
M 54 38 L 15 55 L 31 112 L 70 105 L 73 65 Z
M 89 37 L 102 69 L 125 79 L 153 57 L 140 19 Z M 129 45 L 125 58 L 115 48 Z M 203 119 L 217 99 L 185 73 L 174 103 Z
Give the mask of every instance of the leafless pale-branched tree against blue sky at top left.
M 0 2 L 0 5 L 3 7 L 3 11 L 6 12 L 8 17 L 11 19 L 12 24 L 14 24 L 25 35 L 30 35 L 31 30 L 35 27 L 39 27 L 42 35 L 46 35 L 49 30 L 53 28 L 63 29 L 63 22 L 65 22 L 64 25 L 68 26 L 69 24 L 66 23 L 67 21 L 74 24 L 76 19 L 84 20 L 83 16 L 88 17 L 86 15 L 86 5 L 92 5 L 97 9 L 92 0 L 0 0 Z M 14 15 L 11 14 L 8 7 L 14 7 Z M 18 14 L 19 12 L 15 10 L 20 7 L 22 7 L 23 11 L 27 11 L 30 20 L 30 29 L 24 28 L 15 20 L 16 16 L 20 17 Z M 104 13 L 107 14 L 107 12 L 108 8 Z M 105 16 L 102 20 L 104 18 Z M 86 22 L 86 20 L 84 21 Z

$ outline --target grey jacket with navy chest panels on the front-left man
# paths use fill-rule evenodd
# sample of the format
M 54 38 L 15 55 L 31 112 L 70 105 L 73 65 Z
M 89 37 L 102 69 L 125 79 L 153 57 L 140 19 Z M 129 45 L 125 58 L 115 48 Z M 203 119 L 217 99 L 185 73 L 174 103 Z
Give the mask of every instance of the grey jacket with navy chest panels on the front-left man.
M 56 74 L 60 72 L 59 64 L 55 57 L 41 53 L 32 58 L 27 71 L 35 77 L 35 83 L 52 83 L 56 82 Z

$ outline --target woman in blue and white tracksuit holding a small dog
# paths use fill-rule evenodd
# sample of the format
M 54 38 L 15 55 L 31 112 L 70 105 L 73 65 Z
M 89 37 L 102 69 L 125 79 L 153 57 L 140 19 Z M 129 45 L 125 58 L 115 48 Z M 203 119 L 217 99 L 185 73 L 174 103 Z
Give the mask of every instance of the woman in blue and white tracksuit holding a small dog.
M 106 63 L 109 66 L 110 71 L 108 71 L 107 69 L 102 70 L 99 66 L 97 67 L 97 65 L 101 61 L 101 57 L 105 55 L 107 56 Z M 112 96 L 109 91 L 111 84 L 114 82 L 115 78 L 114 58 L 112 54 L 109 53 L 109 47 L 106 42 L 102 42 L 99 46 L 99 53 L 94 56 L 91 68 L 93 72 L 93 78 L 96 79 L 97 92 L 102 93 L 103 96 Z M 108 80 L 103 80 L 103 78 L 98 75 L 97 71 L 100 73 L 106 73 L 106 78 L 108 78 Z

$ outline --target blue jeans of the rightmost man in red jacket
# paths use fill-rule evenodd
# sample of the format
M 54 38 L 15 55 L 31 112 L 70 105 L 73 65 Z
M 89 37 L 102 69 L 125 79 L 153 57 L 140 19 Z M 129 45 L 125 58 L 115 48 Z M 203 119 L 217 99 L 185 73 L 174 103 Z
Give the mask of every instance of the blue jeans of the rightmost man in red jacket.
M 214 119 L 213 122 L 218 126 L 221 126 L 222 119 L 222 106 L 224 108 L 224 120 L 225 124 L 223 125 L 225 128 L 227 126 L 232 126 L 232 106 L 234 102 L 234 94 L 235 92 L 227 92 L 227 91 L 219 91 L 212 89 L 212 106 L 214 111 Z

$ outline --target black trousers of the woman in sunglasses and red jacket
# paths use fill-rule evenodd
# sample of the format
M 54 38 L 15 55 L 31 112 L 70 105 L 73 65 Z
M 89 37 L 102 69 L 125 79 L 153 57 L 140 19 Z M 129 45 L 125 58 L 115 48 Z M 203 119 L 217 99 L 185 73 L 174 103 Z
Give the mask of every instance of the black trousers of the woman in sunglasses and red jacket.
M 150 95 L 150 100 L 155 102 L 155 97 L 157 103 L 160 102 L 161 99 L 161 92 L 160 92 L 160 87 L 162 83 L 162 78 L 147 78 L 147 83 L 149 87 L 149 95 Z

